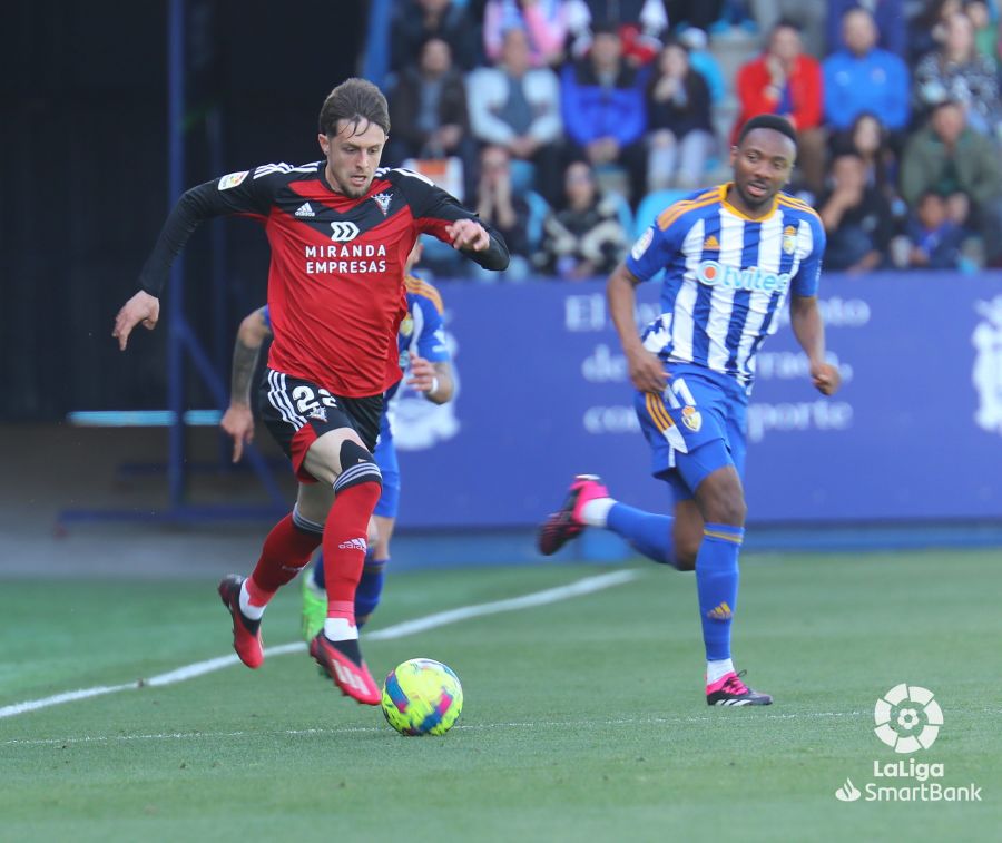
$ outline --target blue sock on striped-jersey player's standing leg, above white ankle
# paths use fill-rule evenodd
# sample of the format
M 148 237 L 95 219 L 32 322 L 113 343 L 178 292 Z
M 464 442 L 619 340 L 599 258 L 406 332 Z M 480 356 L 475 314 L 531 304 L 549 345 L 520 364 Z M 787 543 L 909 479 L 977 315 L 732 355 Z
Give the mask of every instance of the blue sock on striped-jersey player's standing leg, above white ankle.
M 707 523 L 696 556 L 696 590 L 703 643 L 708 661 L 730 658 L 730 625 L 737 606 L 738 553 L 745 531 L 730 525 Z

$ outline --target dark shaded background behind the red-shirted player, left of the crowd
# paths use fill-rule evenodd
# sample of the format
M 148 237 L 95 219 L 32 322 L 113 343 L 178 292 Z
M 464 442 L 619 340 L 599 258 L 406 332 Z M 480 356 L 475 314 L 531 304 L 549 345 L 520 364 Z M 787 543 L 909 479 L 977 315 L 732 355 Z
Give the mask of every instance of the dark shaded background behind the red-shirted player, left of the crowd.
M 167 196 L 168 4 L 2 8 L 0 420 L 163 408 L 164 325 L 140 331 L 127 354 L 110 331 L 176 198 Z M 366 14 L 358 1 L 188 0 L 185 184 L 318 158 L 316 114 L 356 72 Z M 225 372 L 236 325 L 264 300 L 267 243 L 254 223 L 216 223 L 193 237 L 185 267 L 185 312 Z M 214 272 L 224 280 L 215 302 Z M 210 405 L 189 383 L 187 404 Z

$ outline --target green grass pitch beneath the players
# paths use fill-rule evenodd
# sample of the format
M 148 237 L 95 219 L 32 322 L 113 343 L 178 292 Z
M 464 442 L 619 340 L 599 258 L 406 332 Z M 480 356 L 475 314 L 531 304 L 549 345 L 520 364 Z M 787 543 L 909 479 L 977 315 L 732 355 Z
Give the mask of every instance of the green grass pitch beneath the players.
M 706 706 L 692 576 L 628 567 L 603 591 L 370 641 L 377 677 L 414 656 L 455 669 L 444 737 L 401 737 L 304 653 L 0 718 L 0 840 L 999 839 L 998 552 L 748 557 L 735 659 L 776 697 L 759 709 Z M 371 628 L 603 570 L 394 574 Z M 0 585 L 0 708 L 230 653 L 214 581 Z M 268 609 L 267 645 L 296 640 L 297 598 Z M 873 734 L 898 683 L 943 709 L 912 757 L 982 802 L 835 798 L 898 759 Z

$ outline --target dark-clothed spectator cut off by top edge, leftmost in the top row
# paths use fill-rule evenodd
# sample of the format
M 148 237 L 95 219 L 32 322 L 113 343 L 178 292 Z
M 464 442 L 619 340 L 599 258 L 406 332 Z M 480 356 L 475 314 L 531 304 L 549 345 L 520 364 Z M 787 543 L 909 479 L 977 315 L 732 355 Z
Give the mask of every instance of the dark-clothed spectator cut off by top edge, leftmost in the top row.
M 452 58 L 461 70 L 480 63 L 475 37 L 477 26 L 465 4 L 453 0 L 401 0 L 391 24 L 390 67 L 400 72 L 421 51 L 430 38 L 441 38 L 452 49 Z M 395 128 L 395 127 L 394 127 Z

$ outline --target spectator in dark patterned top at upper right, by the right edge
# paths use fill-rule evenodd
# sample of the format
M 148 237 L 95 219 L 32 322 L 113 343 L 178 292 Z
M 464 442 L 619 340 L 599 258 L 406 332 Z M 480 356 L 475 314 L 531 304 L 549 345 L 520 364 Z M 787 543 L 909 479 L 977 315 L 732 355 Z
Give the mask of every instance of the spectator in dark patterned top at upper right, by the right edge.
M 967 125 L 982 135 L 998 137 L 1002 118 L 998 75 L 992 61 L 978 51 L 974 24 L 963 12 L 946 18 L 942 46 L 920 60 L 914 92 L 922 112 L 944 99 L 963 102 Z

